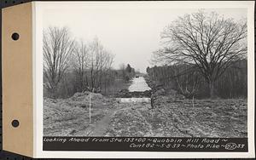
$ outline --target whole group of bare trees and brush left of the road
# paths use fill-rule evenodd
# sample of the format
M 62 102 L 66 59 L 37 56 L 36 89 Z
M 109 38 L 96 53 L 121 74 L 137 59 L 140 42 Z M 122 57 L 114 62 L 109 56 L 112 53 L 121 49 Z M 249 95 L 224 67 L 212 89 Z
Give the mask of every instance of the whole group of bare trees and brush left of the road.
M 74 39 L 67 27 L 45 29 L 44 96 L 66 98 L 84 91 L 107 93 L 116 79 L 128 82 L 134 69 L 128 64 L 114 70 L 113 58 L 98 38 L 84 43 Z

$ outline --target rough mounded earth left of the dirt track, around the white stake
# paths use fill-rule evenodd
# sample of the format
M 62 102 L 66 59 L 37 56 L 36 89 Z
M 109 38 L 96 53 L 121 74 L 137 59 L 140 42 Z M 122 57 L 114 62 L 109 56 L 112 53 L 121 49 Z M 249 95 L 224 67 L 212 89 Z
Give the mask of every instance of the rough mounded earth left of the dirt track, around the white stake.
M 44 98 L 44 135 L 67 136 L 87 129 L 90 124 L 89 106 L 91 119 L 96 121 L 113 108 L 115 102 L 102 94 L 90 92 L 76 93 L 65 100 Z

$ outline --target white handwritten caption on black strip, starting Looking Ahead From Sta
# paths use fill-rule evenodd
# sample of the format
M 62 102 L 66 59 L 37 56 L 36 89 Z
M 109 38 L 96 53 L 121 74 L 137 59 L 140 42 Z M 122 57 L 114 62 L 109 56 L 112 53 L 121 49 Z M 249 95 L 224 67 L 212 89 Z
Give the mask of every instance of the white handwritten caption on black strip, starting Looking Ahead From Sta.
M 224 138 L 147 138 L 147 137 L 44 137 L 44 143 L 88 143 L 88 144 L 119 144 L 130 149 L 174 149 L 180 151 L 233 151 L 246 150 L 246 143 Z

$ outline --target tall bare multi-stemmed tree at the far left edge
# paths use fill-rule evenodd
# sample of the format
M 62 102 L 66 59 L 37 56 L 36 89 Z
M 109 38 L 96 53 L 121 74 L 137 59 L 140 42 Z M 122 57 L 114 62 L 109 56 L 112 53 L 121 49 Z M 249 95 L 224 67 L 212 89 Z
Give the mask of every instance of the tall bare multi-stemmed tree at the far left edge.
M 44 87 L 55 97 L 58 84 L 65 75 L 74 41 L 66 27 L 44 30 Z

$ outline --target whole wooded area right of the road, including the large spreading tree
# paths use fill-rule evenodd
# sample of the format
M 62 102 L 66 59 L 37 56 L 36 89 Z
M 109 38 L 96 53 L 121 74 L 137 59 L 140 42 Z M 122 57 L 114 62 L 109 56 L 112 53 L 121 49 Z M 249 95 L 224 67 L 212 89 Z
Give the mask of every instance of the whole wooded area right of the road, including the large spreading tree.
M 246 97 L 246 37 L 243 20 L 203 10 L 185 14 L 162 31 L 163 47 L 154 52 L 153 61 L 166 66 L 148 68 L 149 77 L 173 83 L 186 97 Z

